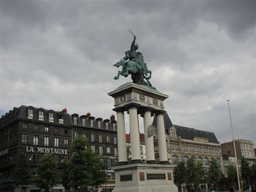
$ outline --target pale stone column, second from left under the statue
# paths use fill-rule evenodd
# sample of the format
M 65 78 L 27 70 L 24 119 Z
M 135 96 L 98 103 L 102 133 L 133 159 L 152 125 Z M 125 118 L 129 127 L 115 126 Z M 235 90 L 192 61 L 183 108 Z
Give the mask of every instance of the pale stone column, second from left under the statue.
M 140 154 L 140 132 L 138 124 L 138 114 L 136 108 L 129 109 L 129 122 L 130 122 L 130 140 L 131 140 L 131 156 L 132 162 L 141 162 Z

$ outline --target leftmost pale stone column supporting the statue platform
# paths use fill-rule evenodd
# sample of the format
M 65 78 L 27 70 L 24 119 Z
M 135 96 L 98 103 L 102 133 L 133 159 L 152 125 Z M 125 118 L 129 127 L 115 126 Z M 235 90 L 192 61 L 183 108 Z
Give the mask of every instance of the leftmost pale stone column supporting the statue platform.
M 116 115 L 117 115 L 118 163 L 126 164 L 127 151 L 126 151 L 124 112 L 117 112 Z

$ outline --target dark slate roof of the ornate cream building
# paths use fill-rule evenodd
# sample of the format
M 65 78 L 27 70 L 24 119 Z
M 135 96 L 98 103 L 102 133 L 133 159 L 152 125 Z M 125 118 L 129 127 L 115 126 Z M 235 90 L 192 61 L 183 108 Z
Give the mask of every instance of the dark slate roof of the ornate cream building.
M 154 116 L 154 120 L 153 120 L 152 124 L 154 126 L 156 126 L 156 116 Z M 173 124 L 172 124 L 172 121 L 170 120 L 170 117 L 168 116 L 167 113 L 165 113 L 164 114 L 164 128 L 165 128 L 166 134 L 169 134 L 168 130 L 172 126 L 173 126 Z M 200 137 L 200 138 L 206 138 L 206 139 L 208 139 L 209 142 L 212 142 L 212 143 L 219 143 L 213 132 L 183 127 L 183 126 L 179 126 L 179 125 L 174 125 L 174 127 L 176 128 L 176 135 L 180 136 L 183 139 L 193 140 L 193 137 Z

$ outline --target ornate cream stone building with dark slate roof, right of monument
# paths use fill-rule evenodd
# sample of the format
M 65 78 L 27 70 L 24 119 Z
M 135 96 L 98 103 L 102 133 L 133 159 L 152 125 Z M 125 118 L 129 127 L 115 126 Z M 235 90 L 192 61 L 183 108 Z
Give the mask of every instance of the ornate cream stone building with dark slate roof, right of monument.
M 156 126 L 156 117 L 153 125 Z M 178 164 L 179 161 L 187 164 L 188 158 L 193 157 L 195 161 L 204 164 L 208 173 L 210 159 L 215 158 L 223 172 L 221 146 L 213 132 L 173 125 L 167 113 L 164 114 L 164 127 L 168 160 L 171 164 Z M 154 141 L 157 155 L 157 134 L 154 136 Z M 210 186 L 201 184 L 201 188 L 207 187 Z

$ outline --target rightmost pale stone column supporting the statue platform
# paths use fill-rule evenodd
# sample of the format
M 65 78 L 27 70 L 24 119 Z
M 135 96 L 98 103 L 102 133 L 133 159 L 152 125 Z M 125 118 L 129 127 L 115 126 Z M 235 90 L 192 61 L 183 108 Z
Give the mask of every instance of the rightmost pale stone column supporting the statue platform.
M 159 162 L 162 164 L 168 164 L 167 158 L 167 147 L 166 137 L 164 128 L 164 115 L 157 114 L 156 116 L 156 127 L 157 127 L 157 140 L 158 140 L 158 151 L 159 151 Z

